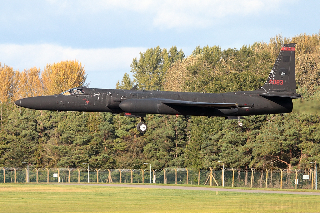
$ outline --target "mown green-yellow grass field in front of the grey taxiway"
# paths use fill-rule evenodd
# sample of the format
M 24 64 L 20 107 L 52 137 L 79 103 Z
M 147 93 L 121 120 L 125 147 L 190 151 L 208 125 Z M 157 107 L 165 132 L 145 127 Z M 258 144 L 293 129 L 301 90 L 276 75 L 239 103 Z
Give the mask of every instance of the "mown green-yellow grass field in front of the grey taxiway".
M 320 196 L 6 183 L 0 212 L 320 212 Z

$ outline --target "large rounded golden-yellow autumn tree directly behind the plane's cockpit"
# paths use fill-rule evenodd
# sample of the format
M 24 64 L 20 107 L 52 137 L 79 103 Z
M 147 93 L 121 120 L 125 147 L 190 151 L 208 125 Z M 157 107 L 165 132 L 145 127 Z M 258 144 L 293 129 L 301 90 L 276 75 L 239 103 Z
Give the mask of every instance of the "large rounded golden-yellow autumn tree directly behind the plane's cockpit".
M 41 72 L 45 95 L 59 94 L 72 87 L 85 87 L 84 67 L 77 60 L 48 64 Z

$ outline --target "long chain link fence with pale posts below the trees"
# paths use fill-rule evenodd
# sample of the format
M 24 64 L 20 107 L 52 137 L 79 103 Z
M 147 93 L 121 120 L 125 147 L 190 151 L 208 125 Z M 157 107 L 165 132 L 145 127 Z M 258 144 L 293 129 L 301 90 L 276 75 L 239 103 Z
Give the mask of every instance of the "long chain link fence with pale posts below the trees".
M 150 183 L 150 169 L 90 169 L 89 174 L 92 183 Z M 312 169 L 289 171 L 227 168 L 224 171 L 225 186 L 234 187 L 315 189 L 315 179 Z M 1 167 L 0 181 L 27 182 L 27 168 Z M 88 169 L 29 167 L 28 182 L 88 182 Z M 151 183 L 222 186 L 223 169 L 152 169 Z

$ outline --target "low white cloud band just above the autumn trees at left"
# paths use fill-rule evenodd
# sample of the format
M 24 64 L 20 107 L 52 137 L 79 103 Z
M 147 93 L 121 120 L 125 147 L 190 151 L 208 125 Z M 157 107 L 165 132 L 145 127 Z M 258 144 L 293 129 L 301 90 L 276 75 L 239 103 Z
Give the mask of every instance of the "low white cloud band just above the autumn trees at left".
M 130 69 L 132 58 L 139 57 L 139 52 L 145 49 L 142 47 L 73 49 L 52 44 L 0 44 L 0 58 L 2 63 L 19 70 L 33 66 L 43 69 L 48 63 L 76 59 L 85 65 L 86 70 L 105 71 Z

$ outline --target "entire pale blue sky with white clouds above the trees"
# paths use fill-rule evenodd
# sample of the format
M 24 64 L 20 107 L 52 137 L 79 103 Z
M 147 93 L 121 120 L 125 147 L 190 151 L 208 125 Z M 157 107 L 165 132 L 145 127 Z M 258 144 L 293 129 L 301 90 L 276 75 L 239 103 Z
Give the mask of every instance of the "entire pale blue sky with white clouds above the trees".
M 187 56 L 198 45 L 239 49 L 319 29 L 320 1 L 0 0 L 0 62 L 22 71 L 77 59 L 90 87 L 115 88 L 158 45 Z

